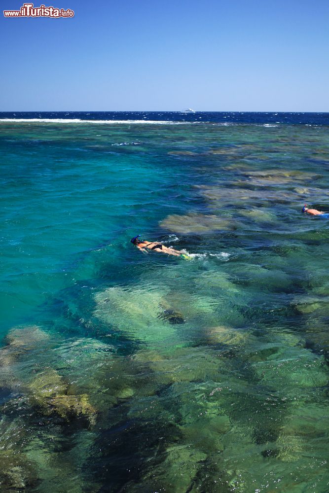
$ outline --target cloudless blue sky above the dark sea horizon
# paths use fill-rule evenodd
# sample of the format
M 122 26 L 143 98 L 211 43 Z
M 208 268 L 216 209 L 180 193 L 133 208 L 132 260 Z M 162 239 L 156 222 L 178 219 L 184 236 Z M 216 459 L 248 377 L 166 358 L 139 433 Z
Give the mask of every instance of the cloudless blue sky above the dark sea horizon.
M 1 10 L 0 111 L 329 111 L 328 0 L 41 3 L 75 16 Z

